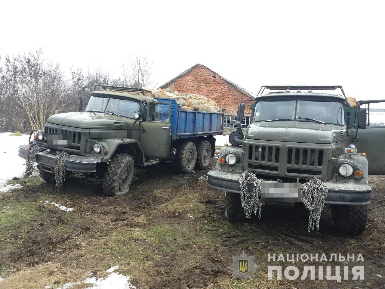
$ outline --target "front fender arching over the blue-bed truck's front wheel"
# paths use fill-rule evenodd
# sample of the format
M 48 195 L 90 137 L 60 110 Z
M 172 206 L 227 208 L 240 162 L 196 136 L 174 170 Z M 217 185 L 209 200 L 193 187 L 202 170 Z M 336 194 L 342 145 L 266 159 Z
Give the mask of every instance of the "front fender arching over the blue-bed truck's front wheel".
M 105 159 L 110 159 L 112 155 L 118 152 L 129 152 L 134 158 L 135 165 L 144 166 L 144 152 L 136 139 L 132 138 L 116 138 L 103 139 L 100 143 L 105 146 L 107 153 Z

